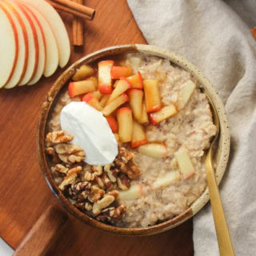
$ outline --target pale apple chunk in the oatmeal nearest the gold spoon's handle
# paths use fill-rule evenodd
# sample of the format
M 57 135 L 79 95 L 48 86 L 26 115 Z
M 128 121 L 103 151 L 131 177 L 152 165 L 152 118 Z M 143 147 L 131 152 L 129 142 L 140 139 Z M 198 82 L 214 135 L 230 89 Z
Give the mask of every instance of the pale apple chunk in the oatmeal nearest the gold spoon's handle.
M 194 174 L 194 166 L 190 161 L 190 156 L 186 153 L 186 151 L 179 150 L 174 153 L 175 158 L 178 161 L 179 169 L 182 172 L 183 177 L 190 178 Z

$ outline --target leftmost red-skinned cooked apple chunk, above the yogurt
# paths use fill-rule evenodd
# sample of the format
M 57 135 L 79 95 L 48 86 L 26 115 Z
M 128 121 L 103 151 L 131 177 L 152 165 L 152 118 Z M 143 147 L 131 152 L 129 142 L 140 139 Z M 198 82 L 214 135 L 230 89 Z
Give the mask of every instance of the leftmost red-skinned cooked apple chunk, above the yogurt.
M 70 82 L 68 90 L 70 98 L 74 98 L 75 96 L 78 96 L 80 94 L 90 93 L 96 90 L 96 88 L 94 81 L 86 79 L 84 81 Z

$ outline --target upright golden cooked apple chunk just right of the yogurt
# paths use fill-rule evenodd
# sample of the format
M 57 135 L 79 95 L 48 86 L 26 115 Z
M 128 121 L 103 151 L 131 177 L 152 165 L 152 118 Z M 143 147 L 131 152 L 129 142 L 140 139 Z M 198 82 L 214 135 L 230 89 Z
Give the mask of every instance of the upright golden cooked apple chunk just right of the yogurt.
M 111 103 L 110 103 L 111 104 Z M 130 107 L 122 107 L 117 111 L 118 135 L 121 142 L 130 142 L 133 138 L 133 115 Z

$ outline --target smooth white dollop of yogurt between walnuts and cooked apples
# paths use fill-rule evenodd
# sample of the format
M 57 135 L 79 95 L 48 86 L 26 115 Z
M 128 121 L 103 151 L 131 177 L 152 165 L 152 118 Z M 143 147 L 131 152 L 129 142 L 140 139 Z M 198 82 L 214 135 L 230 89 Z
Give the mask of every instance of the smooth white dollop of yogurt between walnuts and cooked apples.
M 62 130 L 74 136 L 71 142 L 86 152 L 85 162 L 105 166 L 118 154 L 118 143 L 103 114 L 86 102 L 70 102 L 60 116 Z

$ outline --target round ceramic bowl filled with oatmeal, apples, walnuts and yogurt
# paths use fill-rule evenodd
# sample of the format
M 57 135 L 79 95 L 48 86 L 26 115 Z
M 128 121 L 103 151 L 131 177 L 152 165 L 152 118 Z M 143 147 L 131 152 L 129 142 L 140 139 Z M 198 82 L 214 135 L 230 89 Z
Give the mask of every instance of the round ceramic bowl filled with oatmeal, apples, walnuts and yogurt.
M 216 127 L 219 183 L 230 151 L 222 101 L 185 58 L 156 46 L 113 46 L 75 62 L 42 105 L 38 157 L 71 214 L 115 234 L 155 234 L 209 200 L 205 156 Z

